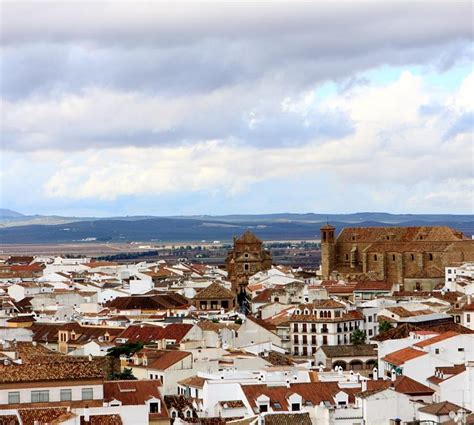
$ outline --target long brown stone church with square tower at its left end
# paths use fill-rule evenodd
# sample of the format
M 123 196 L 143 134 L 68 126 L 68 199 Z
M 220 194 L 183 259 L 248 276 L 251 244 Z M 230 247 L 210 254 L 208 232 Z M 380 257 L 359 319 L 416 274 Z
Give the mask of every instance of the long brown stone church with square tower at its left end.
M 385 280 L 405 291 L 444 283 L 445 267 L 474 261 L 474 241 L 447 226 L 321 227 L 323 279 Z

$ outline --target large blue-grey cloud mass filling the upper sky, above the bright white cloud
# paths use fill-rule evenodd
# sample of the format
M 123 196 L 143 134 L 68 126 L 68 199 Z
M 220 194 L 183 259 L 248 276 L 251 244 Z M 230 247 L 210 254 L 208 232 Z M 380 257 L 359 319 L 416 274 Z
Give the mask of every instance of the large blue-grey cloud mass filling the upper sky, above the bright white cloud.
M 304 121 L 282 113 L 281 101 L 328 80 L 349 90 L 365 84 L 358 73 L 381 64 L 448 66 L 452 58 L 469 55 L 470 7 L 469 2 L 4 3 L 0 89 L 13 106 L 80 97 L 90 88 L 161 103 L 185 99 L 196 106 L 158 128 L 120 115 L 130 120 L 124 129 L 109 124 L 119 105 L 108 104 L 89 121 L 6 128 L 3 146 L 77 150 L 212 138 L 294 146 L 343 137 L 353 123 L 342 111 L 315 112 Z M 214 94 L 221 100 L 207 99 Z M 260 119 L 253 129 L 244 119 L 252 111 Z

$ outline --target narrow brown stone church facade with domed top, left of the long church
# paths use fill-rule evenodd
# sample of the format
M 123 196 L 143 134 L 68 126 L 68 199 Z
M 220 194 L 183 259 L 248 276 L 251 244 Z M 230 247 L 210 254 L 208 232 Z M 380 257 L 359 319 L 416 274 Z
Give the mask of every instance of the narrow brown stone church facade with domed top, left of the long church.
M 234 237 L 234 247 L 225 263 L 232 289 L 239 293 L 247 286 L 250 276 L 271 268 L 272 255 L 263 248 L 263 242 L 247 230 L 239 238 Z

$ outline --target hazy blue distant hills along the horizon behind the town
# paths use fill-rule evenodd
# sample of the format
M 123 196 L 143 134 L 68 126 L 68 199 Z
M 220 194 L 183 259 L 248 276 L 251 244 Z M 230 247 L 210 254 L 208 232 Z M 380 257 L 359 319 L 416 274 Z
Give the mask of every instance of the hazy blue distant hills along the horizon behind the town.
M 27 216 L 0 209 L 0 243 L 70 243 L 82 241 L 231 241 L 246 229 L 264 240 L 317 239 L 319 228 L 329 221 L 343 227 L 439 226 L 474 234 L 474 215 L 451 214 L 261 214 L 187 217 L 60 217 Z

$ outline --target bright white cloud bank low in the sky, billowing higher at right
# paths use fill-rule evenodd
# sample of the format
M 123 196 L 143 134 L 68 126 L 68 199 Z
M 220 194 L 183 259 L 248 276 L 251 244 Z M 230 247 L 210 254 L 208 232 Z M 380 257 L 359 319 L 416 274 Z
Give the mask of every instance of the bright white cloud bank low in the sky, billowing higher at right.
M 453 99 L 463 96 L 471 79 L 466 79 Z M 420 114 L 420 107 L 430 101 L 430 87 L 421 78 L 404 73 L 391 84 L 366 91 L 354 89 L 325 101 L 327 108 L 344 108 L 355 121 L 355 134 L 341 140 L 287 149 L 200 141 L 179 147 L 88 150 L 64 155 L 45 190 L 50 197 L 64 199 L 114 199 L 202 190 L 240 196 L 258 182 L 302 177 L 311 181 L 312 174 L 328 174 L 348 186 L 370 188 L 376 203 L 406 202 L 413 208 L 424 205 L 426 209 L 439 209 L 449 192 L 446 210 L 456 202 L 468 206 L 471 135 L 443 141 L 447 125 L 443 117 L 455 110 L 434 117 Z M 286 107 L 301 106 L 301 102 L 296 103 L 292 106 L 286 101 Z M 408 106 L 397 119 L 396 108 L 405 104 Z M 312 108 L 308 104 L 308 109 Z M 434 187 L 439 190 L 430 189 Z M 318 188 L 314 191 L 317 196 Z M 395 194 L 404 199 L 394 199 Z

